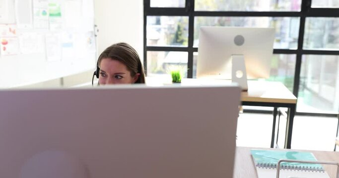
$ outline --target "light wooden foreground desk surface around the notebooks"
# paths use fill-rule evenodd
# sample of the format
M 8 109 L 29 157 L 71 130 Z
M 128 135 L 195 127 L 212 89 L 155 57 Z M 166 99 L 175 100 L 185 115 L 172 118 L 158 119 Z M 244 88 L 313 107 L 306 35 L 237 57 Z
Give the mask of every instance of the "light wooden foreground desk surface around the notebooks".
M 251 149 L 272 149 L 272 148 L 251 148 L 236 147 L 233 178 L 258 178 L 256 168 L 252 159 Z M 275 149 L 276 150 L 276 149 Z M 284 150 L 284 149 L 281 149 Z M 290 149 L 288 149 L 290 151 Z M 335 151 L 309 151 L 312 152 L 318 161 L 332 161 L 339 163 L 339 152 Z M 337 167 L 333 165 L 323 165 L 331 178 L 336 178 Z

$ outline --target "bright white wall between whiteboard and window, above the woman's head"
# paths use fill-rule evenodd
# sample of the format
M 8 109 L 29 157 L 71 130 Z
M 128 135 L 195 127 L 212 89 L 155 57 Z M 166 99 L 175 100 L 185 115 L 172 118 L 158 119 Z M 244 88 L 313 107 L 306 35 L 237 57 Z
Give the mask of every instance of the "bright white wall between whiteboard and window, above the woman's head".
M 143 60 L 143 0 L 94 0 L 98 26 L 98 54 L 108 46 L 125 42 Z

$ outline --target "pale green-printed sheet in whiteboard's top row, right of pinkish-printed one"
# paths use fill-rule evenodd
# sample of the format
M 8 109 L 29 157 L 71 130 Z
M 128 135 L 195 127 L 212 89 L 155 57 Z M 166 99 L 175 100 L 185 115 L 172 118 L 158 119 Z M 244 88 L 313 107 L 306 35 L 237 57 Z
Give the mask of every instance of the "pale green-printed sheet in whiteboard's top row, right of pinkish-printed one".
M 51 31 L 60 31 L 63 28 L 61 4 L 58 2 L 48 3 L 49 24 Z

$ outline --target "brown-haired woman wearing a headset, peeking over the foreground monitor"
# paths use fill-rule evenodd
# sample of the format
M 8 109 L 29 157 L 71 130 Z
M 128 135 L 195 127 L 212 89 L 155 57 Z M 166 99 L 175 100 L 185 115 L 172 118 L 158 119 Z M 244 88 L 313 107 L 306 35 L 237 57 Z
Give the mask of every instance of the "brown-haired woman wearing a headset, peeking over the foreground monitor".
M 99 79 L 99 85 L 145 83 L 140 57 L 136 50 L 126 43 L 107 47 L 98 58 L 93 77 L 94 75 Z

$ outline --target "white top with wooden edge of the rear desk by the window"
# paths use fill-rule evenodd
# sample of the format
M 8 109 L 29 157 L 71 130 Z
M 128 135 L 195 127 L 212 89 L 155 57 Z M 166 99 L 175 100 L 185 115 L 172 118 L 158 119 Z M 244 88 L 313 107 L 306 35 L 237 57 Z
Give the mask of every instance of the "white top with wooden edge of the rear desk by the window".
M 230 84 L 230 80 L 183 79 L 181 85 Z M 146 77 L 147 85 L 172 84 L 171 78 Z M 297 98 L 280 82 L 248 81 L 248 91 L 241 93 L 241 101 L 295 104 Z

